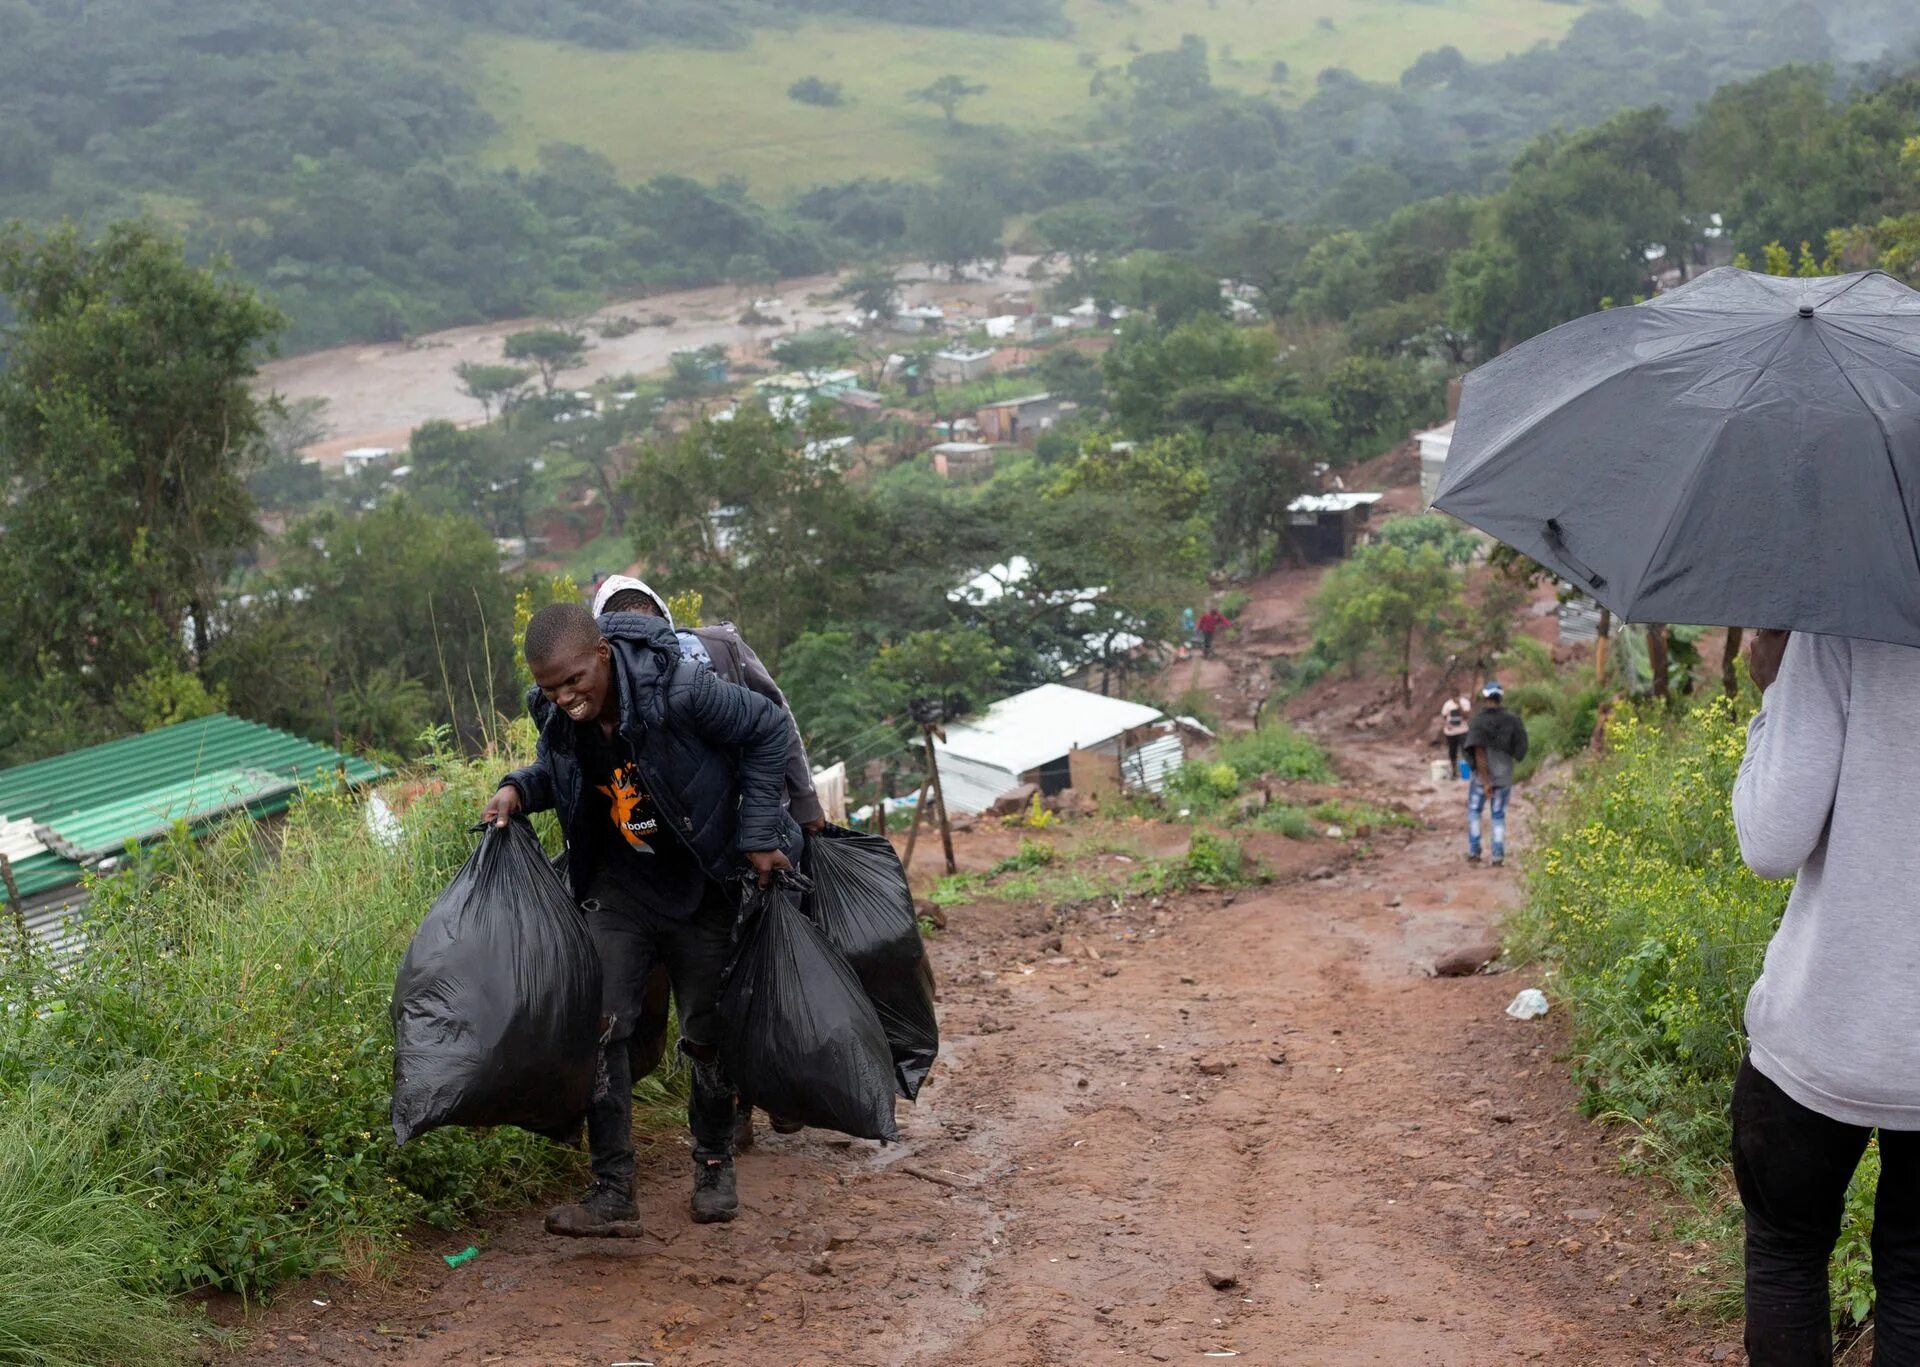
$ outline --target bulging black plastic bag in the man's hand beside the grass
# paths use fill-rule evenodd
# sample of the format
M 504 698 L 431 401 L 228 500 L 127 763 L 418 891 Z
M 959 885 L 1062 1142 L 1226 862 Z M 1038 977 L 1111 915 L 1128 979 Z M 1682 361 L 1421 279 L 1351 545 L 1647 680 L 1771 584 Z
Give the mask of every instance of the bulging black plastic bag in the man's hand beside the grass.
M 599 1016 L 586 918 L 534 827 L 486 827 L 394 979 L 394 1139 L 442 1125 L 576 1139 Z

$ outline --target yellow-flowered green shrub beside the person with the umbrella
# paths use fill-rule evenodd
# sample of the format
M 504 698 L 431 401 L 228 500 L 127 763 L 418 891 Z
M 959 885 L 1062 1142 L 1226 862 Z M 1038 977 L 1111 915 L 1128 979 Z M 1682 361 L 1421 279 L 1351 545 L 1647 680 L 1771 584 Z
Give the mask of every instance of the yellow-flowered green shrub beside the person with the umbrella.
M 1740 858 L 1732 791 L 1745 716 L 1745 703 L 1724 697 L 1672 720 L 1619 714 L 1607 756 L 1540 831 L 1509 945 L 1555 968 L 1586 1108 L 1638 1127 L 1653 1165 L 1709 1208 L 1728 1192 L 1747 989 L 1789 891 Z M 1851 1317 L 1870 1292 L 1862 1221 L 1874 1171 L 1870 1156 L 1834 1265 L 1834 1304 Z

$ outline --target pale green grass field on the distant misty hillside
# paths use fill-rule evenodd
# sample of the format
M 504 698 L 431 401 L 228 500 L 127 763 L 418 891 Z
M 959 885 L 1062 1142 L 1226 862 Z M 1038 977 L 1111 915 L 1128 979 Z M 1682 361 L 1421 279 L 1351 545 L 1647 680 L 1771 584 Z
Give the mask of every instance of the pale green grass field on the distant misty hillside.
M 605 154 L 622 177 L 739 175 L 780 194 L 858 175 L 927 175 L 964 138 L 1016 132 L 1087 136 L 1092 71 L 1137 52 L 1208 40 L 1213 79 L 1300 96 L 1325 67 L 1392 79 L 1419 54 L 1453 44 L 1494 58 L 1557 38 L 1582 6 L 1555 0 L 1069 0 L 1073 35 L 1018 38 L 956 29 L 818 19 L 760 31 L 741 50 L 599 52 L 538 38 L 486 38 L 467 50 L 468 79 L 499 121 L 497 165 L 530 165 L 549 142 Z M 1325 23 L 1323 23 L 1325 21 Z M 958 71 L 987 84 L 948 131 L 906 92 Z M 799 77 L 839 81 L 851 104 L 787 98 Z

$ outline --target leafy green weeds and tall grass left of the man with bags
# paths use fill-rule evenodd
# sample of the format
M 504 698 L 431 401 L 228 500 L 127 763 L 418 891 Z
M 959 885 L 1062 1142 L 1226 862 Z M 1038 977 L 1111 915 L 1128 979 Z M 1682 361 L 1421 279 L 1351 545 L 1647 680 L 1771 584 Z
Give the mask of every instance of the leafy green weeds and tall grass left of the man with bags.
M 261 1292 L 380 1259 L 422 1221 L 453 1229 L 578 1167 L 513 1129 L 403 1150 L 388 1129 L 394 970 L 497 772 L 424 776 L 392 849 L 346 797 L 301 803 L 276 833 L 179 833 L 94 887 L 83 973 L 6 981 L 0 1110 L 127 1098 L 98 1171 L 161 1192 L 129 1286 Z M 674 1114 L 657 1087 L 643 1100 Z

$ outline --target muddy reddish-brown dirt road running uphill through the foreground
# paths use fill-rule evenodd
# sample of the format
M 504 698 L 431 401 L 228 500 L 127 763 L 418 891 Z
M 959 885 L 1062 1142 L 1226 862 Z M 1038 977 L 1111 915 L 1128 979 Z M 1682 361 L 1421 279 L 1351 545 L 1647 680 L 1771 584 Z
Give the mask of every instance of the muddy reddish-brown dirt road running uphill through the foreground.
M 1380 791 L 1423 758 L 1369 741 L 1342 768 Z M 301 1296 L 238 1359 L 1738 1361 L 1670 1309 L 1693 1250 L 1653 1238 L 1657 1196 L 1574 1114 L 1557 1021 L 1503 1018 L 1532 977 L 1423 973 L 1515 895 L 1461 862 L 1455 804 L 1423 789 L 1434 827 L 1371 854 L 1271 837 L 1260 891 L 954 908 L 906 1142 L 762 1137 L 726 1227 L 687 1221 L 674 1144 L 653 1238 L 526 1213 L 461 1269 L 440 1254 L 467 1235 L 397 1286 Z

